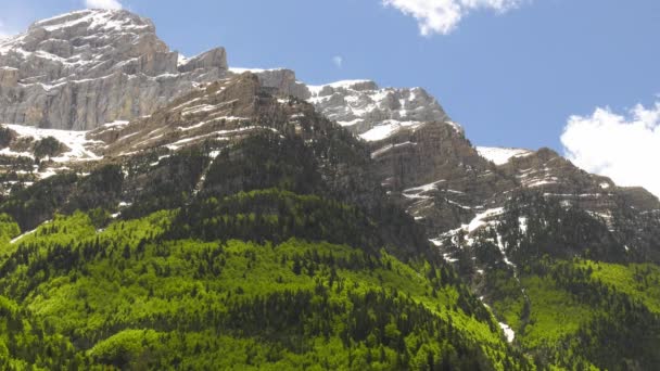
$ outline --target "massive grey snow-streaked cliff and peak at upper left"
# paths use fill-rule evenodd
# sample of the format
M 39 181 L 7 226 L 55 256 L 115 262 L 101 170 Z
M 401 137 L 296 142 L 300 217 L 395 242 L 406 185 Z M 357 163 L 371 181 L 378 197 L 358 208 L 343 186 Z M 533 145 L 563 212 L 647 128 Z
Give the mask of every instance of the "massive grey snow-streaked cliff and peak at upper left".
M 180 63 L 129 12 L 64 14 L 0 42 L 0 121 L 89 130 L 149 115 L 226 71 L 224 49 Z

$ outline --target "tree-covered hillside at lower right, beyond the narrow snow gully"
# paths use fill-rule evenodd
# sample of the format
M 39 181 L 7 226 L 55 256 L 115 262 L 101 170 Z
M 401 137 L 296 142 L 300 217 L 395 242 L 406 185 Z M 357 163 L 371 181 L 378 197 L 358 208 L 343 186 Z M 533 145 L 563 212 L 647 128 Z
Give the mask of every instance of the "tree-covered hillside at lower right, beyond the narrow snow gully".
M 660 364 L 656 264 L 621 248 L 597 217 L 537 193 L 512 197 L 502 220 L 466 246 L 477 258 L 458 268 L 519 349 L 566 369 Z

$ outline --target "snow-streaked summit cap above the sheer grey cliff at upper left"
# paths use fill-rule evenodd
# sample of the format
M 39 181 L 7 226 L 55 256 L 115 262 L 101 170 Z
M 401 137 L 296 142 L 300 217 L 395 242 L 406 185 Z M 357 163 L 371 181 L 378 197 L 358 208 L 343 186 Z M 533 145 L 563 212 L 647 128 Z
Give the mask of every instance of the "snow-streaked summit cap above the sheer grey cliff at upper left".
M 0 65 L 25 69 L 21 65 L 26 60 L 43 60 L 59 65 L 46 78 L 72 74 L 89 78 L 80 75 L 98 71 L 100 65 L 158 52 L 169 52 L 169 48 L 156 37 L 150 20 L 124 10 L 84 10 L 35 22 L 27 31 L 4 40 Z

